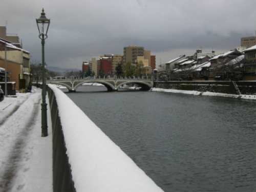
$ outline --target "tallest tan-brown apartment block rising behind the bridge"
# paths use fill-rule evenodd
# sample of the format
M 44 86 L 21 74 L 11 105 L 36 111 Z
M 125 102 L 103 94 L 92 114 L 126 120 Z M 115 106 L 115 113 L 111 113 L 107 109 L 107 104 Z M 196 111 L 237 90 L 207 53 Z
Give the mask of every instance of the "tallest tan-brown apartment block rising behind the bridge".
M 135 63 L 137 57 L 144 56 L 144 47 L 129 46 L 123 48 L 123 63 Z

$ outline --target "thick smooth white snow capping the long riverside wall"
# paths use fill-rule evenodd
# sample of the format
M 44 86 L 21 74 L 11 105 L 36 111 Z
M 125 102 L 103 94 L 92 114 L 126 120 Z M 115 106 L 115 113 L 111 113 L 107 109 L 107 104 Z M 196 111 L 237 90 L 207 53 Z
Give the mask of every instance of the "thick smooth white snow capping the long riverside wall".
M 72 178 L 80 191 L 163 191 L 62 91 L 56 96 Z

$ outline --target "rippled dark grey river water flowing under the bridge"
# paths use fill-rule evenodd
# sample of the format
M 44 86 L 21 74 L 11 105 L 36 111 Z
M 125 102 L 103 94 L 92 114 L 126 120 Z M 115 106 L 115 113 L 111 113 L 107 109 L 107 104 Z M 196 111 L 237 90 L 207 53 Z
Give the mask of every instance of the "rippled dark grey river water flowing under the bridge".
M 256 191 L 256 102 L 81 86 L 66 93 L 164 191 Z

